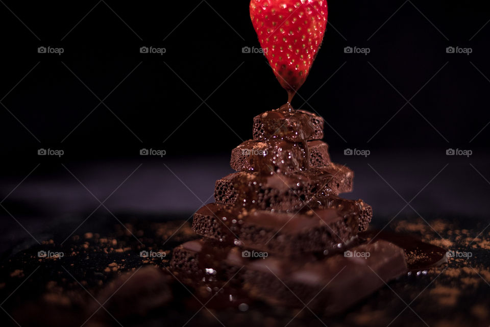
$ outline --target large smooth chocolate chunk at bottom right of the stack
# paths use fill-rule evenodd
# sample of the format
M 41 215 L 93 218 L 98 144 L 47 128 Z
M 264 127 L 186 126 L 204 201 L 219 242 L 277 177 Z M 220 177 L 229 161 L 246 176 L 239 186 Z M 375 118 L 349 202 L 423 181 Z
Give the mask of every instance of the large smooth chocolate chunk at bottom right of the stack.
M 403 250 L 381 240 L 324 260 L 303 263 L 268 257 L 246 268 L 243 288 L 252 297 L 273 305 L 308 304 L 326 314 L 347 309 L 407 271 Z

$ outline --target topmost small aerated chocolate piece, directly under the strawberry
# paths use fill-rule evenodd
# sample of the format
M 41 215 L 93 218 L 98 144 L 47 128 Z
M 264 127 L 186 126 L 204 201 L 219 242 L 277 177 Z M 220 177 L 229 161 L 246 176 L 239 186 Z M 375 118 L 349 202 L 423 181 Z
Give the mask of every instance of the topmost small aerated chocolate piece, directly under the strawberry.
M 254 140 L 292 142 L 323 138 L 323 118 L 304 110 L 276 109 L 254 117 Z

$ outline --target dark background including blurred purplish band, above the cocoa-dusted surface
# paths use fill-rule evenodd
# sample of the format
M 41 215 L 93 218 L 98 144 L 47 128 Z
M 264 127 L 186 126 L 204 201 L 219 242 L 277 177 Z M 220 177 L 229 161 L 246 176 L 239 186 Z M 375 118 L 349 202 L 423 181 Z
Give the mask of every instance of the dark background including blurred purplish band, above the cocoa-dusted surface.
M 118 186 L 106 203 L 113 212 L 187 218 L 210 202 L 214 181 L 231 172 L 231 149 L 251 138 L 252 118 L 286 100 L 266 59 L 242 53 L 259 46 L 248 6 L 0 4 L 0 204 L 13 234 L 26 235 L 12 216 L 27 230 L 43 225 L 39 216 L 71 217 L 75 228 Z M 486 220 L 489 9 L 329 1 L 323 46 L 292 104 L 325 117 L 333 160 L 356 172 L 348 196 L 372 204 L 375 218 L 396 218 L 413 198 L 400 216 Z M 39 46 L 64 53 L 38 54 Z M 140 54 L 141 46 L 166 53 Z M 473 52 L 447 54 L 448 46 Z M 65 155 L 38 156 L 39 148 Z M 141 157 L 140 148 L 166 156 Z M 371 155 L 344 156 L 346 148 Z M 473 155 L 446 156 L 447 148 Z

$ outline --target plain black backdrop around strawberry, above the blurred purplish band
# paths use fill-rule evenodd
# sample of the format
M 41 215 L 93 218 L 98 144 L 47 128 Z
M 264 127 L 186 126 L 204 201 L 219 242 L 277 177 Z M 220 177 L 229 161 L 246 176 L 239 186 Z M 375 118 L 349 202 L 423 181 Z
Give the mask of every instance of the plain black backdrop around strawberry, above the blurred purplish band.
M 228 153 L 251 137 L 254 115 L 286 99 L 265 58 L 242 53 L 258 46 L 248 4 L 5 1 L 2 154 L 18 165 L 40 147 L 77 159 L 132 157 L 144 146 L 167 156 Z M 477 153 L 490 133 L 488 9 L 331 0 L 331 24 L 293 105 L 322 114 L 338 149 Z M 64 53 L 39 54 L 39 46 Z M 166 53 L 141 54 L 141 46 Z M 346 46 L 370 53 L 346 54 Z M 449 46 L 472 53 L 448 54 Z

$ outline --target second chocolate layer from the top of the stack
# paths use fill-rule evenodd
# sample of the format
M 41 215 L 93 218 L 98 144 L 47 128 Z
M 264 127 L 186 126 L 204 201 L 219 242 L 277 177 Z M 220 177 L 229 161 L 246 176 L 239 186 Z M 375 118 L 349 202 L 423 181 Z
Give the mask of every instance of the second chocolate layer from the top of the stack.
M 249 140 L 231 152 L 230 165 L 236 171 L 293 173 L 309 167 L 330 166 L 328 145 L 322 141 L 288 142 L 280 139 Z

